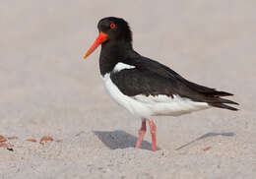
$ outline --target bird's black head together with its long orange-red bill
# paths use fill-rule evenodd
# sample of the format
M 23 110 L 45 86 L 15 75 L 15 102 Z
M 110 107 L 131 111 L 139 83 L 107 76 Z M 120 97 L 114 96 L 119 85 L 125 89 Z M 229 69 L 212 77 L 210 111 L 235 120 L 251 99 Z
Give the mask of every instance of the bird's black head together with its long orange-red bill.
M 126 21 L 121 18 L 108 17 L 101 19 L 97 24 L 98 36 L 95 43 L 87 51 L 84 58 L 86 59 L 96 50 L 96 47 L 102 43 L 110 41 L 124 40 L 132 42 L 132 31 Z

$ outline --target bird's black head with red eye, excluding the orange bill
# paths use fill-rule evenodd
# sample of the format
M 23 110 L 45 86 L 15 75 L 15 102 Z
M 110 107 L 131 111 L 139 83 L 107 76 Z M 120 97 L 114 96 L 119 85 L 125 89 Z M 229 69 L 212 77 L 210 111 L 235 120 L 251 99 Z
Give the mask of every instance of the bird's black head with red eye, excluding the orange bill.
M 101 19 L 97 24 L 99 32 L 107 34 L 107 41 L 125 40 L 132 41 L 132 31 L 126 21 L 121 18 L 108 17 Z

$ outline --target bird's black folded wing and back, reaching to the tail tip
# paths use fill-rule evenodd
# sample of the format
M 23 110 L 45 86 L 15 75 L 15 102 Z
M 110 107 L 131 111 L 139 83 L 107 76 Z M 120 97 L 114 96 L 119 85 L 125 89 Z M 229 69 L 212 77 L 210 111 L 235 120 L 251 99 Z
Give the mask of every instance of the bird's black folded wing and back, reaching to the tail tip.
M 124 63 L 136 68 L 111 73 L 110 78 L 126 95 L 178 94 L 194 101 L 208 102 L 212 106 L 237 110 L 224 104 L 237 104 L 236 102 L 220 97 L 232 95 L 231 93 L 191 83 L 157 61 L 140 56 L 137 59 L 127 59 Z

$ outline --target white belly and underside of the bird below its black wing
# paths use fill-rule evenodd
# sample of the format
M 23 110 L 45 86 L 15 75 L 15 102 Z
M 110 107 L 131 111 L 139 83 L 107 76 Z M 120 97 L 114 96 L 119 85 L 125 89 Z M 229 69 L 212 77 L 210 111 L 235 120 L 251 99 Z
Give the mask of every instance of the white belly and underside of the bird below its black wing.
M 163 94 L 155 96 L 139 94 L 130 97 L 124 95 L 112 83 L 110 74 L 105 74 L 102 80 L 105 89 L 118 104 L 141 118 L 157 115 L 179 116 L 210 107 L 206 102 L 194 102 L 189 98 L 180 97 L 179 95 L 171 97 Z

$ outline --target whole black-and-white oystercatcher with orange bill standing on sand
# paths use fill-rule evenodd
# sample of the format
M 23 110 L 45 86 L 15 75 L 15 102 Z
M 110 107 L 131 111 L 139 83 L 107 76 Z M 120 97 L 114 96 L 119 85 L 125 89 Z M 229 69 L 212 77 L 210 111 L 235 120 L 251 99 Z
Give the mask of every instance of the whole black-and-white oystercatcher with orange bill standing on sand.
M 146 133 L 146 121 L 152 134 L 152 150 L 157 149 L 157 127 L 152 116 L 179 116 L 210 107 L 237 110 L 226 104 L 238 103 L 222 98 L 233 94 L 189 82 L 134 51 L 132 31 L 123 19 L 103 18 L 97 29 L 96 41 L 84 58 L 101 44 L 99 69 L 105 89 L 118 104 L 142 119 L 137 149 Z

